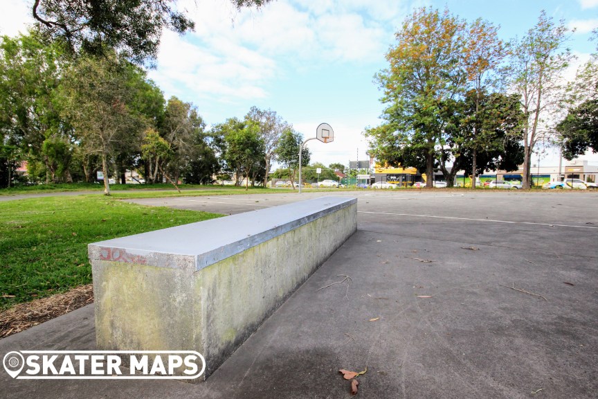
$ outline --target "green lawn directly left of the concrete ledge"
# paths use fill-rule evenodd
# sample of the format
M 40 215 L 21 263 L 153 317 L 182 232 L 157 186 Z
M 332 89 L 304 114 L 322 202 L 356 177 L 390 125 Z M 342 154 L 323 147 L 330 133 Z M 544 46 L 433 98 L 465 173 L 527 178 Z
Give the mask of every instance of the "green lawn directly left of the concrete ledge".
M 0 309 L 91 283 L 90 242 L 219 216 L 102 195 L 0 202 Z

